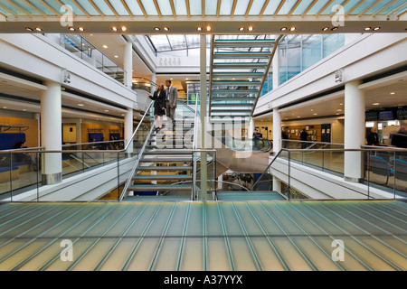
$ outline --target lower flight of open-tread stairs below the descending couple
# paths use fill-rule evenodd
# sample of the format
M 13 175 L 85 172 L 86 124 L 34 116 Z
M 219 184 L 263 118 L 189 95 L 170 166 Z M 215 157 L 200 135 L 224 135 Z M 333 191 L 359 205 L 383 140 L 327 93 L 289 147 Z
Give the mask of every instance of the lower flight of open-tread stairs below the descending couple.
M 184 144 L 185 129 L 163 127 L 150 135 L 124 200 L 191 200 L 192 151 Z

